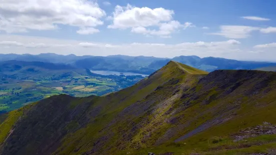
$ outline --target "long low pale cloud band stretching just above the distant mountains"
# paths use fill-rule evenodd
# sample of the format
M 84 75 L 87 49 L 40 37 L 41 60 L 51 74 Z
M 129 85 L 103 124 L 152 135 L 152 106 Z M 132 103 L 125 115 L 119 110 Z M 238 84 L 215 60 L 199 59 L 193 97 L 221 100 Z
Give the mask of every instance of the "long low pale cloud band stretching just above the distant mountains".
M 144 55 L 156 57 L 174 57 L 179 55 L 217 56 L 236 55 L 241 52 L 240 42 L 234 39 L 213 42 L 130 43 L 111 44 L 77 40 L 53 39 L 20 35 L 0 35 L 1 53 L 47 53 L 76 55 Z M 5 40 L 5 41 L 4 41 Z M 9 48 L 5 48 L 9 46 Z

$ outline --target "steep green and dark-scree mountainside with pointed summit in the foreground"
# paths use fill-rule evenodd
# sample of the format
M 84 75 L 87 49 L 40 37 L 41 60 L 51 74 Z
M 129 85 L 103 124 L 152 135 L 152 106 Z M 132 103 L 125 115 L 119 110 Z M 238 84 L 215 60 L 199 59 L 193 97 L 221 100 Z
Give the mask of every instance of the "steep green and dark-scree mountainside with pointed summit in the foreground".
M 170 61 L 106 96 L 55 95 L 1 117 L 2 154 L 246 154 L 276 148 L 276 73 Z

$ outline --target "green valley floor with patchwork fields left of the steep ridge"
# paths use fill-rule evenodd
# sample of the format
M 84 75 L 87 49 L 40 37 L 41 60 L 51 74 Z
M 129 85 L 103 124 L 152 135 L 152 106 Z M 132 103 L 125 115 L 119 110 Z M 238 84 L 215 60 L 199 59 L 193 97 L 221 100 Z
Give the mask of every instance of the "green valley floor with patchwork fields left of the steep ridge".
M 67 70 L 68 71 L 68 70 Z M 128 87 L 142 76 L 101 76 L 86 72 L 17 73 L 0 80 L 0 112 L 11 111 L 56 94 L 104 95 Z M 66 75 L 64 75 L 66 74 Z

